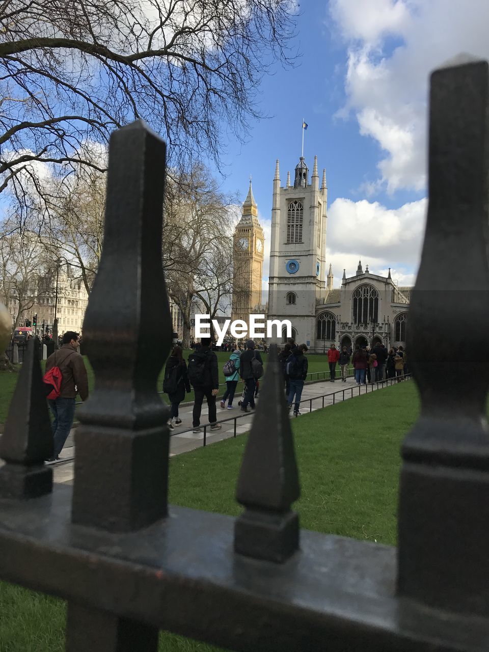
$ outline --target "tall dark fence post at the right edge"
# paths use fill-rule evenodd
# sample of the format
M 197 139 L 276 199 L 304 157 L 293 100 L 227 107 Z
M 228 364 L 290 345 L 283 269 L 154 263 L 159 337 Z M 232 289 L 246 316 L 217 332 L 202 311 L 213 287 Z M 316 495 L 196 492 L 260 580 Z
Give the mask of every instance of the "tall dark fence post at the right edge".
M 489 615 L 488 116 L 486 61 L 434 71 L 428 218 L 407 343 L 422 408 L 402 447 L 398 526 L 398 593 L 484 616 Z M 459 361 L 472 347 L 476 355 L 462 368 Z

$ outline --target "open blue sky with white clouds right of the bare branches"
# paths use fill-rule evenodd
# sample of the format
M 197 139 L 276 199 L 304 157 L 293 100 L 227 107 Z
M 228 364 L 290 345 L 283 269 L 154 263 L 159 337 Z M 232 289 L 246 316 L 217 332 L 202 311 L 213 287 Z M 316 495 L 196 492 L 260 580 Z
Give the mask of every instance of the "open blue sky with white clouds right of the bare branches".
M 250 125 L 244 145 L 229 143 L 222 186 L 244 200 L 252 175 L 266 237 L 275 160 L 285 185 L 301 155 L 304 118 L 306 162 L 312 170 L 318 155 L 327 171 L 335 286 L 360 256 L 370 271 L 392 267 L 400 286 L 413 284 L 426 213 L 428 76 L 459 52 L 489 57 L 489 3 L 309 0 L 299 11 L 301 57 L 263 79 L 259 108 L 270 117 Z

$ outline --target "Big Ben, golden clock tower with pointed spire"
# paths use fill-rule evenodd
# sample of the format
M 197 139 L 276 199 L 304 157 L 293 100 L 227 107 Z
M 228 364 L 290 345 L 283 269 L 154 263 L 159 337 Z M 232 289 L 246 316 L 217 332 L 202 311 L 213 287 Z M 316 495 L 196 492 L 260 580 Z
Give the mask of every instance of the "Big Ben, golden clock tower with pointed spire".
M 243 214 L 234 231 L 233 319 L 248 323 L 250 313 L 261 304 L 263 229 L 251 187 L 243 203 Z

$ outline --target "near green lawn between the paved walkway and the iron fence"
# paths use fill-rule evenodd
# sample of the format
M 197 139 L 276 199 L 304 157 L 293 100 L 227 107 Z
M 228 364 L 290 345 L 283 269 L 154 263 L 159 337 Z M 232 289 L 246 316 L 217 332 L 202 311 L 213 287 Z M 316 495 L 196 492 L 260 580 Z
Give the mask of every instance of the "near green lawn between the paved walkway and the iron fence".
M 301 480 L 301 527 L 396 543 L 400 443 L 417 419 L 413 381 L 363 394 L 293 419 Z M 246 436 L 170 460 L 170 502 L 236 516 L 237 474 Z M 62 652 L 65 603 L 0 584 L 1 652 Z M 217 648 L 167 632 L 160 652 Z

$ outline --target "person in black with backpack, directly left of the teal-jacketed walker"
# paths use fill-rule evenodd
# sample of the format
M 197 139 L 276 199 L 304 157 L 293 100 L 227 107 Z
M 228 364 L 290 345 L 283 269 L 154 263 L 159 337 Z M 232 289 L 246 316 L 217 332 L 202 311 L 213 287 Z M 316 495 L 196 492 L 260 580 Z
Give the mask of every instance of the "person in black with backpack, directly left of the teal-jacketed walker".
M 211 351 L 211 338 L 203 337 L 200 340 L 200 348 L 188 356 L 188 380 L 194 387 L 194 411 L 193 432 L 201 432 L 200 413 L 204 396 L 207 399 L 209 408 L 209 423 L 211 430 L 220 430 L 220 423 L 217 423 L 216 396 L 219 391 L 219 372 L 217 356 Z

